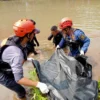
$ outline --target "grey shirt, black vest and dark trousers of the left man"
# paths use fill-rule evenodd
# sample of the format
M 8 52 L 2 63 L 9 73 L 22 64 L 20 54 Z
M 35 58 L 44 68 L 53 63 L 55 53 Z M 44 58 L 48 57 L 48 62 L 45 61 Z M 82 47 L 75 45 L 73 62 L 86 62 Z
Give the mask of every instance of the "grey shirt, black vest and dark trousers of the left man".
M 25 89 L 17 83 L 23 78 L 23 62 L 26 49 L 18 44 L 18 37 L 10 37 L 0 51 L 0 84 L 15 91 L 19 98 L 25 97 Z

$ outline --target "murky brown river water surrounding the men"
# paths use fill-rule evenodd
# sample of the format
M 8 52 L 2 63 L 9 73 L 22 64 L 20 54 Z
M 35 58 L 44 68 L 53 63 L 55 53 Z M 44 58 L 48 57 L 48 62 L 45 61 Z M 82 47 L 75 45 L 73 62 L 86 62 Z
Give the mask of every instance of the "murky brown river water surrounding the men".
M 52 42 L 47 40 L 50 27 L 58 25 L 63 17 L 70 17 L 74 27 L 82 29 L 90 38 L 89 55 L 94 79 L 100 77 L 100 0 L 0 0 L 0 39 L 13 34 L 12 25 L 21 18 L 36 21 L 41 33 L 37 35 L 44 59 L 53 53 Z M 39 59 L 39 56 L 36 57 Z M 40 60 L 40 59 L 39 59 Z M 0 100 L 11 100 L 8 89 L 0 87 Z

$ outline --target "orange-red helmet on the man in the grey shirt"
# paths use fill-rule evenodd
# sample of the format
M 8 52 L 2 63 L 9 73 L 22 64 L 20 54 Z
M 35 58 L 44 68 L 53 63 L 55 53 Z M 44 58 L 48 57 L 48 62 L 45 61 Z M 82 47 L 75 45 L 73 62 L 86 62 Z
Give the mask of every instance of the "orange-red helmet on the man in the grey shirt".
M 23 37 L 35 29 L 35 25 L 28 19 L 21 19 L 13 25 L 16 36 Z

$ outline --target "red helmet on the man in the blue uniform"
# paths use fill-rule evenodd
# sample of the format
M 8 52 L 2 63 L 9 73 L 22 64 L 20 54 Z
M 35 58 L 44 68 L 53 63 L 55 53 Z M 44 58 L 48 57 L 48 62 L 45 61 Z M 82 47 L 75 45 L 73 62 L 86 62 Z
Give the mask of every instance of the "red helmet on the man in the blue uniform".
M 61 20 L 61 22 L 60 22 L 60 24 L 59 24 L 59 28 L 60 29 L 64 29 L 64 28 L 66 28 L 67 26 L 72 26 L 72 20 L 70 19 L 70 18 L 67 18 L 67 17 L 65 17 L 65 18 L 63 18 L 62 20 Z

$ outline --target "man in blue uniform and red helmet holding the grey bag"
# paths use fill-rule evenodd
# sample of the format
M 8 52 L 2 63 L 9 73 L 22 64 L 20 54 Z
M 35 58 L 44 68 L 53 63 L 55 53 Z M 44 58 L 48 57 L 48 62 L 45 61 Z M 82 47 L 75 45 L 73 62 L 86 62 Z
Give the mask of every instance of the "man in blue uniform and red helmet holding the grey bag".
M 70 18 L 63 18 L 59 24 L 59 28 L 63 33 L 63 38 L 57 48 L 62 48 L 64 45 L 70 47 L 70 56 L 84 55 L 90 45 L 90 39 L 80 29 L 72 27 L 73 22 Z

